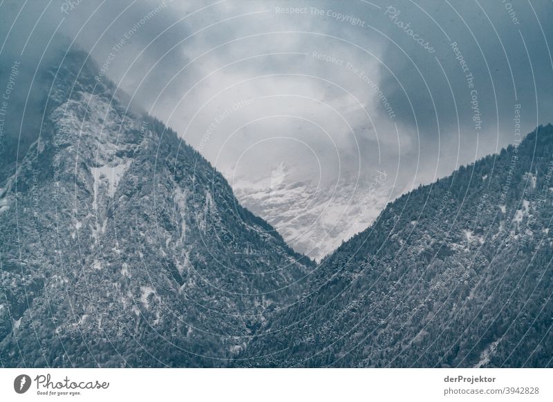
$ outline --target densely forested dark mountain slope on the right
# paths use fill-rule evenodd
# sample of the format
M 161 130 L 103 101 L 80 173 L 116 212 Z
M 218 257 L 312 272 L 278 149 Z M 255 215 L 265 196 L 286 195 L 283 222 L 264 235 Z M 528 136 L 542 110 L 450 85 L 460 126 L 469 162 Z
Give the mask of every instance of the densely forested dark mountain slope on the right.
M 402 195 L 259 329 L 246 367 L 550 367 L 553 126 Z

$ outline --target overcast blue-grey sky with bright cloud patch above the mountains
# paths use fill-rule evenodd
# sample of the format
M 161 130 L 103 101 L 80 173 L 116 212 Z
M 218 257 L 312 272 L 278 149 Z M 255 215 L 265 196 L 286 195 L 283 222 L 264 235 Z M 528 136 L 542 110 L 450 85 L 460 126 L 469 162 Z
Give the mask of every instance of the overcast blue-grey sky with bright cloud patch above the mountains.
M 48 55 L 82 48 L 231 181 L 285 164 L 363 189 L 386 171 L 395 196 L 513 143 L 517 105 L 523 133 L 553 120 L 552 17 L 551 1 L 0 0 L 0 78 L 21 61 L 26 99 Z

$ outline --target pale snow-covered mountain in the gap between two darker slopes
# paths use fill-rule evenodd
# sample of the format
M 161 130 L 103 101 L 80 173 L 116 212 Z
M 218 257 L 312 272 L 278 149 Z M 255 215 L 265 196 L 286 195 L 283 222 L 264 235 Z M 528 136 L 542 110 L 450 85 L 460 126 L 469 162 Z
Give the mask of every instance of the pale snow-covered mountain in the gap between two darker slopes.
M 241 204 L 277 229 L 294 250 L 317 261 L 344 239 L 366 229 L 390 197 L 383 186 L 385 171 L 378 171 L 370 180 L 332 184 L 289 180 L 290 173 L 281 162 L 270 178 L 234 180 L 234 193 Z

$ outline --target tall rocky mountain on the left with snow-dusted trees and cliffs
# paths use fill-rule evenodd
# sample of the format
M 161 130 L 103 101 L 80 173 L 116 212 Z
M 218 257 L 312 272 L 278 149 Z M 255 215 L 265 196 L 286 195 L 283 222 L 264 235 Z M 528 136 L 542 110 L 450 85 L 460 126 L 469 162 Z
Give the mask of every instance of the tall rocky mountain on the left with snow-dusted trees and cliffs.
M 50 70 L 40 135 L 2 166 L 0 364 L 226 365 L 314 265 L 99 71 Z

